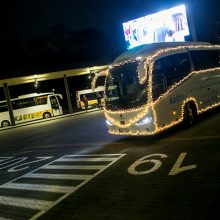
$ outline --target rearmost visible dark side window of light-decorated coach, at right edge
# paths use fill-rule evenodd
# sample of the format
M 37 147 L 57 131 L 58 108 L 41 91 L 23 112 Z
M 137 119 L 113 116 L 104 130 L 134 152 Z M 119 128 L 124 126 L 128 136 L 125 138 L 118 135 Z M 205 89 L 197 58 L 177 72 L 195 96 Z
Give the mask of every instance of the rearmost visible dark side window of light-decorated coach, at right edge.
M 194 70 L 220 67 L 219 50 L 193 50 L 190 51 L 190 54 L 194 64 Z

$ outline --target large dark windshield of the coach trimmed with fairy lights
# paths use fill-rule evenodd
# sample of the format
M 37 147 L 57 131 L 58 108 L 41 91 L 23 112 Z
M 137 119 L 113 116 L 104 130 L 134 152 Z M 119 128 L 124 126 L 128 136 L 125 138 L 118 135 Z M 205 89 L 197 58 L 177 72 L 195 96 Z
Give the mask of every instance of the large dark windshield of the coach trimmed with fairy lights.
M 138 80 L 140 62 L 125 63 L 109 70 L 106 79 L 106 109 L 130 109 L 147 103 L 147 81 Z

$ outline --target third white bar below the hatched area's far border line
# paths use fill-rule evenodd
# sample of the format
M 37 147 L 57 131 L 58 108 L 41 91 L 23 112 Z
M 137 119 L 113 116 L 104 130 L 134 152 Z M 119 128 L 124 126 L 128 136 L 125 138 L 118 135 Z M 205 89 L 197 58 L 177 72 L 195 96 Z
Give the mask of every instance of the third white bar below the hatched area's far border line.
M 44 179 L 62 179 L 62 180 L 86 180 L 93 175 L 73 175 L 73 174 L 47 174 L 47 173 L 29 173 L 24 178 L 44 178 Z

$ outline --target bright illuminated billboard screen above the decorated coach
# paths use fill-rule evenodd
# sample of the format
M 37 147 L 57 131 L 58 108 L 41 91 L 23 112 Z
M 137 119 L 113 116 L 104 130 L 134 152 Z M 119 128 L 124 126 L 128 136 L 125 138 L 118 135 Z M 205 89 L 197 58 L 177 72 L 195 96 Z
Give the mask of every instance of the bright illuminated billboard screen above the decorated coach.
M 189 27 L 185 5 L 123 23 L 127 49 L 150 43 L 185 41 Z

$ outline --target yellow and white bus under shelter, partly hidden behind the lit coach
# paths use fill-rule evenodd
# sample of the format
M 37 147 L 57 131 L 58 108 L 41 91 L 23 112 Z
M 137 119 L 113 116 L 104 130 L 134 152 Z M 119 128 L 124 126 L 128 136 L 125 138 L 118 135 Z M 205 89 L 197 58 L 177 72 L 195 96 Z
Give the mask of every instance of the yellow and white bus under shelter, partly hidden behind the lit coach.
M 98 108 L 98 100 L 97 95 L 101 96 L 101 103 L 104 105 L 104 86 L 98 86 L 95 91 L 92 89 L 85 89 L 85 90 L 79 90 L 76 91 L 76 103 L 77 108 L 79 109 L 85 109 L 85 105 L 83 103 L 83 96 L 85 95 L 88 99 L 88 108 Z

